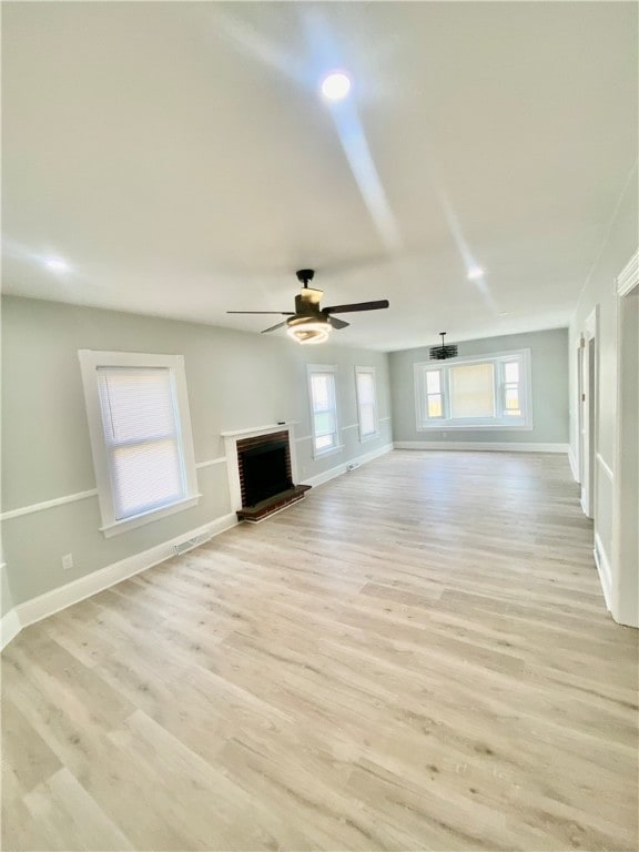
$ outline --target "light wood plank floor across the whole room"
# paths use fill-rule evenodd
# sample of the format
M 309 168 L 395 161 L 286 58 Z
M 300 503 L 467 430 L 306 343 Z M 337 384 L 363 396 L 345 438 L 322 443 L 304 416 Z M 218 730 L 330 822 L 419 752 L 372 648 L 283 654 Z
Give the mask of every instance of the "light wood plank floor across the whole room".
M 560 456 L 395 452 L 23 631 L 4 850 L 635 850 Z

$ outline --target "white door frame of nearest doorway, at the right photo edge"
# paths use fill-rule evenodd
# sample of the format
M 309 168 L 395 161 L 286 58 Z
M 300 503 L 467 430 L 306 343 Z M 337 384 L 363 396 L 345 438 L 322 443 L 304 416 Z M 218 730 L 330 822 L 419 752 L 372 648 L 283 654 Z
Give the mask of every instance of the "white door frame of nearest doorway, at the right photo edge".
M 639 535 L 639 518 L 631 517 L 636 507 L 629 505 L 626 489 L 633 484 L 637 487 L 638 470 L 628 470 L 625 448 L 628 435 L 623 430 L 625 400 L 625 339 L 623 310 L 625 300 L 639 286 L 639 250 L 623 267 L 616 281 L 616 322 L 617 322 L 617 413 L 615 418 L 615 503 L 612 507 L 612 616 L 622 625 L 639 627 L 639 566 L 631 564 L 622 547 L 621 532 L 636 530 Z M 633 439 L 630 437 L 630 439 Z

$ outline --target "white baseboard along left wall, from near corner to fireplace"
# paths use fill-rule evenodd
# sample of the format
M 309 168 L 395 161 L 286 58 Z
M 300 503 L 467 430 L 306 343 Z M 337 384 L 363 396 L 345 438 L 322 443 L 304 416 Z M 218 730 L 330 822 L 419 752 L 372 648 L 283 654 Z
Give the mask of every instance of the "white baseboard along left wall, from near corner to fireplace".
M 2 647 L 8 641 L 11 641 L 14 636 L 23 627 L 33 625 L 36 621 L 41 621 L 48 616 L 52 616 L 59 612 L 61 609 L 79 604 L 85 598 L 90 598 L 92 595 L 97 595 L 99 591 L 114 586 L 116 582 L 133 577 L 135 574 L 145 571 L 148 568 L 152 568 L 154 565 L 170 559 L 175 556 L 175 545 L 180 545 L 184 541 L 189 541 L 197 536 L 217 536 L 220 532 L 224 532 L 226 529 L 231 529 L 237 524 L 237 516 L 235 513 L 229 515 L 222 515 L 220 518 L 205 524 L 202 527 L 192 529 L 189 532 L 183 532 L 181 536 L 163 541 L 161 545 L 151 547 L 149 550 L 143 550 L 141 554 L 134 554 L 128 556 L 125 559 L 113 565 L 108 565 L 105 568 L 100 568 L 97 571 L 80 577 L 72 582 L 68 582 L 65 586 L 60 586 L 57 589 L 39 595 L 37 598 L 19 604 L 2 619 Z M 12 619 L 9 617 L 12 616 Z M 17 625 L 17 630 L 4 641 L 4 622 L 7 622 L 7 635 L 11 633 L 11 630 Z

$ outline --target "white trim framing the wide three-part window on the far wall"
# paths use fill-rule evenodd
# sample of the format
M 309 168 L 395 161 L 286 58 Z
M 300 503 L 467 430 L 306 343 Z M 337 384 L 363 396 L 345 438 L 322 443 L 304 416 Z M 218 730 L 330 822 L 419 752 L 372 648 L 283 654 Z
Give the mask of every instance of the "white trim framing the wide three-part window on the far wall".
M 506 361 L 508 358 L 521 359 L 521 382 L 520 392 L 525 410 L 525 417 L 519 423 L 497 419 L 493 423 L 486 423 L 486 418 L 464 418 L 464 422 L 449 419 L 446 417 L 427 420 L 423 419 L 425 407 L 425 382 L 424 373 L 428 369 L 446 369 L 450 366 L 463 366 L 466 364 L 485 364 L 487 362 Z M 417 432 L 443 432 L 448 429 L 481 429 L 489 432 L 531 432 L 532 426 L 532 373 L 530 368 L 530 349 L 515 349 L 510 352 L 491 352 L 473 357 L 447 358 L 446 361 L 426 361 L 413 365 L 413 375 L 415 382 L 415 420 Z M 447 381 L 447 376 L 443 376 Z M 448 398 L 449 393 L 446 390 Z M 446 402 L 446 405 L 448 403 Z

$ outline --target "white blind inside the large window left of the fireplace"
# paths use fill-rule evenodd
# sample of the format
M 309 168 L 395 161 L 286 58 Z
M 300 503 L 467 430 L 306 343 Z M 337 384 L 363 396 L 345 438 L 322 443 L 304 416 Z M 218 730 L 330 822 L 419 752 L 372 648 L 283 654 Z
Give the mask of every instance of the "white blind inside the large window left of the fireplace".
M 180 428 L 166 367 L 100 367 L 98 386 L 115 519 L 185 496 Z

